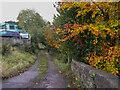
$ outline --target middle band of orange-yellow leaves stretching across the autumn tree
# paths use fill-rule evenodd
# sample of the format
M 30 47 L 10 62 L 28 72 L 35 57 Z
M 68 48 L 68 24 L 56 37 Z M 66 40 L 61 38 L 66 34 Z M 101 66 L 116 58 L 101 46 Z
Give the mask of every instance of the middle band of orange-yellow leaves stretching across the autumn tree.
M 79 25 L 75 23 L 74 25 L 72 24 L 65 24 L 64 25 L 65 29 L 57 28 L 56 34 L 62 35 L 62 39 L 59 39 L 59 41 L 66 41 L 70 40 L 72 37 L 77 37 L 79 33 L 83 33 L 82 36 L 80 37 L 87 37 L 89 33 L 91 32 L 93 35 L 95 35 L 94 44 L 98 42 L 97 37 L 100 35 L 102 39 L 105 39 L 107 34 L 111 36 L 111 39 L 117 37 L 118 29 L 111 29 L 108 27 L 105 27 L 104 25 L 97 25 L 97 24 L 90 24 L 90 25 Z M 88 33 L 85 34 L 85 30 L 88 30 Z M 68 34 L 68 35 L 66 35 Z

